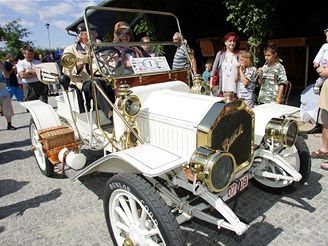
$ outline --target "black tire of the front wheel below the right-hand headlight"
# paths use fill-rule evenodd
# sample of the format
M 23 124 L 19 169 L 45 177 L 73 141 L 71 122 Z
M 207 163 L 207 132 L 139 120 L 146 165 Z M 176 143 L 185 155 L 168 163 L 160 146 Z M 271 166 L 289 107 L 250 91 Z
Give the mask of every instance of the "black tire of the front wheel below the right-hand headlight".
M 302 186 L 306 180 L 308 179 L 310 172 L 311 172 L 311 156 L 310 156 L 310 150 L 304 140 L 303 137 L 298 136 L 295 142 L 295 147 L 298 152 L 298 157 L 300 161 L 299 168 L 296 168 L 296 170 L 302 175 L 302 179 L 299 182 L 292 182 L 291 184 L 287 184 L 284 187 L 272 187 L 265 185 L 264 180 L 265 179 L 257 179 L 256 176 L 252 179 L 252 182 L 254 185 L 259 187 L 262 190 L 275 193 L 275 194 L 285 194 L 290 193 L 298 189 L 300 186 Z

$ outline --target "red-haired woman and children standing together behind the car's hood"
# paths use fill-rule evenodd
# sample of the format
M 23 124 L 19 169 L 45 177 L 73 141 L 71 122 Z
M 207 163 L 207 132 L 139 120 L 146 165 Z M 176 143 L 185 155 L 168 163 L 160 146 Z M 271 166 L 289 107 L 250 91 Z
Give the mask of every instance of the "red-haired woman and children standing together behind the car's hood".
M 207 62 L 205 65 L 203 80 L 210 83 L 212 95 L 223 97 L 224 93 L 230 92 L 235 99 L 245 101 L 250 107 L 272 102 L 285 104 L 288 80 L 278 57 L 278 47 L 269 43 L 263 51 L 265 64 L 256 68 L 251 53 L 237 49 L 238 39 L 236 33 L 227 33 L 222 40 L 223 48 L 217 52 L 213 64 Z M 256 86 L 260 87 L 258 95 Z

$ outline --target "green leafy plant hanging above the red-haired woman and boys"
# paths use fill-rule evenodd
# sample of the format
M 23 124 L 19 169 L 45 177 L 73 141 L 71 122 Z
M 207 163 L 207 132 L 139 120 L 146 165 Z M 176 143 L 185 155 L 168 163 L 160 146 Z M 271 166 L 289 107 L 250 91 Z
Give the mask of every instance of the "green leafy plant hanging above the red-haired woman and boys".
M 270 0 L 224 0 L 223 4 L 229 12 L 227 21 L 248 37 L 248 49 L 258 65 L 262 42 L 273 32 L 270 17 L 274 8 Z

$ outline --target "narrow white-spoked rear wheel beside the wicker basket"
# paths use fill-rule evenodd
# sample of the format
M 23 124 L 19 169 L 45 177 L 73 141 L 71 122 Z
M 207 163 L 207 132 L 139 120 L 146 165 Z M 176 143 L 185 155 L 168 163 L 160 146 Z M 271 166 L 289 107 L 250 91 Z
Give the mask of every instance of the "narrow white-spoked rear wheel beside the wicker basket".
M 30 122 L 30 138 L 32 142 L 32 147 L 34 148 L 34 157 L 38 164 L 40 171 L 47 177 L 54 175 L 54 165 L 48 160 L 42 151 L 42 146 L 38 142 L 37 128 L 33 120 Z

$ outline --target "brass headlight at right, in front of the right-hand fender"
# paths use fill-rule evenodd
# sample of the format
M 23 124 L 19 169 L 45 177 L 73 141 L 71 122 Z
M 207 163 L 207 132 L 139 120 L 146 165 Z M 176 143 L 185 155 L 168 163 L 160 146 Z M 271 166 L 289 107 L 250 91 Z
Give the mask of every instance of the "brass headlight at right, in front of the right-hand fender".
M 265 127 L 265 139 L 273 139 L 285 147 L 295 144 L 298 135 L 298 125 L 294 120 L 273 118 Z

